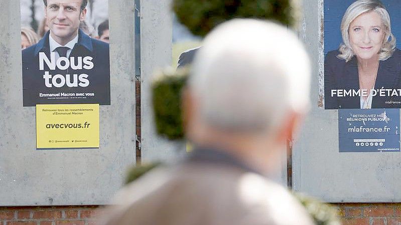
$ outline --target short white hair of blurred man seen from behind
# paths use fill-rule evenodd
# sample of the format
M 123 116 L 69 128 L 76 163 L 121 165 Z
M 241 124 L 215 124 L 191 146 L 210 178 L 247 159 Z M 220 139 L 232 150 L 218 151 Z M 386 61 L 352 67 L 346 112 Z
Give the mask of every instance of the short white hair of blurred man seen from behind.
M 219 25 L 195 56 L 189 87 L 200 119 L 227 131 L 264 131 L 309 108 L 309 57 L 297 36 L 267 21 Z

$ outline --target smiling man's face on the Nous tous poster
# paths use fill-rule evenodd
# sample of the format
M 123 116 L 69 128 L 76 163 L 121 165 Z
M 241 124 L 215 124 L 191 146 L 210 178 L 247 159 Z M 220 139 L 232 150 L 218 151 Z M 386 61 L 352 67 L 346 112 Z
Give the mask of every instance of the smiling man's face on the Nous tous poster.
M 78 34 L 79 23 L 85 20 L 86 9 L 80 11 L 80 0 L 48 0 L 45 7 L 46 23 L 50 35 L 65 45 Z

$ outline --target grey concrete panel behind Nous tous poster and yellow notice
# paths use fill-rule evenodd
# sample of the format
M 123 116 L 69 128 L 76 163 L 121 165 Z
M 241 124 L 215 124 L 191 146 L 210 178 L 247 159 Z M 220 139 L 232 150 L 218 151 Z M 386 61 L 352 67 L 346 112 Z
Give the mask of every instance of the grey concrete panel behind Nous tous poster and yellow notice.
M 135 163 L 133 0 L 109 1 L 111 105 L 100 148 L 36 150 L 35 107 L 22 107 L 20 1 L 0 3 L 0 205 L 106 204 Z

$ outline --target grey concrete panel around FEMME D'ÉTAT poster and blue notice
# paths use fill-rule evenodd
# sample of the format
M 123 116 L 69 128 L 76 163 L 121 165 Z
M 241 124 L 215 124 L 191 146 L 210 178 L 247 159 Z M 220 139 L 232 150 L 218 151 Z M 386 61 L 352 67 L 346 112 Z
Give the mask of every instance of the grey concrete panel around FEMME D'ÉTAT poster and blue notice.
M 304 0 L 300 36 L 312 58 L 312 109 L 293 147 L 293 188 L 329 202 L 401 201 L 401 153 L 339 153 L 338 111 L 324 110 L 323 0 Z

